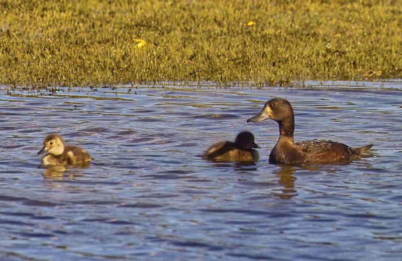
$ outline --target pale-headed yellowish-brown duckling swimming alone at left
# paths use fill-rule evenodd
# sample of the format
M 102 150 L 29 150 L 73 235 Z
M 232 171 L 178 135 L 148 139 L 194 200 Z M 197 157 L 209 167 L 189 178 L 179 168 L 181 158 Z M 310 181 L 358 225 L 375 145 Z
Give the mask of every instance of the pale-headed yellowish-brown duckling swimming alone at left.
M 79 164 L 91 160 L 91 156 L 86 152 L 86 150 L 76 146 L 65 145 L 59 135 L 48 135 L 43 144 L 44 146 L 38 152 L 38 155 L 44 152 L 49 152 L 42 158 L 42 163 L 44 165 Z

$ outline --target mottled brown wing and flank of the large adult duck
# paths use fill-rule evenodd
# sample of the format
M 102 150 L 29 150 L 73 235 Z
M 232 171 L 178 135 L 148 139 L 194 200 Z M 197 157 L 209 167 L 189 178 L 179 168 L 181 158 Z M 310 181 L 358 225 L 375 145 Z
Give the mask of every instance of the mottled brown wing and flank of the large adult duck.
M 351 156 L 357 155 L 348 145 L 330 140 L 309 140 L 295 144 L 309 162 L 336 162 L 349 160 Z

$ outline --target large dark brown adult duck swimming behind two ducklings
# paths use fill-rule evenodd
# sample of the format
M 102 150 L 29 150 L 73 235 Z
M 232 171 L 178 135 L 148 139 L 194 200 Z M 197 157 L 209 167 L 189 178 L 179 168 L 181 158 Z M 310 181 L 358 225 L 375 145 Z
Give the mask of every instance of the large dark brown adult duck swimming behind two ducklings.
M 260 113 L 247 122 L 272 119 L 279 124 L 279 139 L 269 155 L 270 163 L 336 163 L 358 159 L 372 144 L 352 148 L 329 140 L 311 140 L 294 143 L 294 115 L 290 103 L 281 98 L 267 101 Z

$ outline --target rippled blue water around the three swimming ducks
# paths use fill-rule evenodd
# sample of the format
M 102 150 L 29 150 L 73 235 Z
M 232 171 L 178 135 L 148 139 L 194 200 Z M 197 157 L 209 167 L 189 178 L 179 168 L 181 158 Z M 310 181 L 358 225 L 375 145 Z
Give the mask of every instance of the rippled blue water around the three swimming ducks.
M 400 260 L 402 82 L 130 88 L 0 87 L 0 260 Z M 296 141 L 373 149 L 268 164 L 277 124 L 246 120 L 272 97 L 292 103 Z M 199 157 L 243 130 L 256 164 Z M 41 166 L 50 133 L 93 162 Z

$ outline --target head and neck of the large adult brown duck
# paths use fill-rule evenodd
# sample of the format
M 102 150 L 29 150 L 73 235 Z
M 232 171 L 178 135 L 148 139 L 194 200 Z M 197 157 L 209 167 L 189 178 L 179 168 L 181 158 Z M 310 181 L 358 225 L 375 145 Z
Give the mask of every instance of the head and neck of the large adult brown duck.
M 247 122 L 260 122 L 266 119 L 272 119 L 279 124 L 280 134 L 293 137 L 294 115 L 290 103 L 282 98 L 274 98 L 267 101 L 264 108 Z

